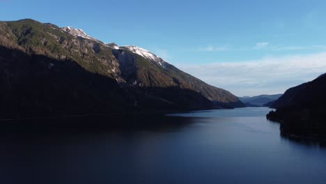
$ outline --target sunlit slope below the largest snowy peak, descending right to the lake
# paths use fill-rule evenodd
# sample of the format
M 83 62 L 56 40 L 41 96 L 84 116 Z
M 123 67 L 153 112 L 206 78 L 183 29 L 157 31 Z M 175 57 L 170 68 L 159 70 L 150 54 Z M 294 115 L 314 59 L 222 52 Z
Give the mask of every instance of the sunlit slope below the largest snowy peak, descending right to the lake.
M 244 107 L 242 102 L 230 92 L 205 84 L 145 49 L 124 46 L 119 49 L 113 48 L 112 52 L 121 63 L 121 73 L 129 84 L 137 84 L 146 88 L 178 86 L 181 89 L 201 93 L 213 103 L 214 107 Z

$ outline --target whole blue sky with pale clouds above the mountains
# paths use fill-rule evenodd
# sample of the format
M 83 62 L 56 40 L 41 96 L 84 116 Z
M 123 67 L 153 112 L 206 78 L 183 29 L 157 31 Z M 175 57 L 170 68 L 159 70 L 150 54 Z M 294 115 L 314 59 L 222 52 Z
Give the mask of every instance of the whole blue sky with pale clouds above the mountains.
M 283 93 L 326 72 L 326 1 L 0 0 L 32 18 L 137 45 L 235 95 Z

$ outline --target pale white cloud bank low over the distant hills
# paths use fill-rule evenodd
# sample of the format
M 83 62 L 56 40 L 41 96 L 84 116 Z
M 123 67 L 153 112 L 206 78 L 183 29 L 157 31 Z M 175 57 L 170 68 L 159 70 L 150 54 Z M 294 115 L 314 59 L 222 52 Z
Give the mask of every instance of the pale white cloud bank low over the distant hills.
M 235 95 L 284 93 L 326 72 L 326 52 L 267 57 L 256 61 L 177 65 L 181 70 Z

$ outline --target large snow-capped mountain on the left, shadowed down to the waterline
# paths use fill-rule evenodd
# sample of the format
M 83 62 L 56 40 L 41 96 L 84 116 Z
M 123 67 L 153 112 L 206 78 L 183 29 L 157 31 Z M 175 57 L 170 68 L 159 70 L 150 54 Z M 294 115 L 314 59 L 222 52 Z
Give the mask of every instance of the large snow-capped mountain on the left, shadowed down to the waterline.
M 1 118 L 244 107 L 146 49 L 30 19 L 0 22 L 0 84 Z

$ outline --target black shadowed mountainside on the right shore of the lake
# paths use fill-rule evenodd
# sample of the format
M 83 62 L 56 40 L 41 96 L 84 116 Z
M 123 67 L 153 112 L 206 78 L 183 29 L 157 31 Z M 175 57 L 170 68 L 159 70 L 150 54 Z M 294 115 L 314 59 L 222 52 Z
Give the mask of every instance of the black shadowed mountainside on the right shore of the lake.
M 288 89 L 267 118 L 281 123 L 284 135 L 326 137 L 326 75 Z M 326 140 L 326 139 L 325 139 Z

